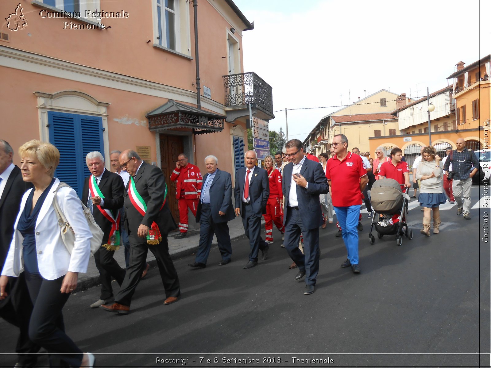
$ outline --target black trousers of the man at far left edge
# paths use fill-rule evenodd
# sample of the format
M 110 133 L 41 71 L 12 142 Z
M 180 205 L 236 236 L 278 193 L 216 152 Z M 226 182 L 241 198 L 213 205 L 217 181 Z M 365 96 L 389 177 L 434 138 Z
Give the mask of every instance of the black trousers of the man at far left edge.
M 0 301 L 0 317 L 8 323 L 19 327 L 20 334 L 15 346 L 18 363 L 21 366 L 36 365 L 40 346 L 29 340 L 29 319 L 32 313 L 32 302 L 27 290 L 25 272 L 19 277 L 10 277 L 5 290 L 8 296 Z

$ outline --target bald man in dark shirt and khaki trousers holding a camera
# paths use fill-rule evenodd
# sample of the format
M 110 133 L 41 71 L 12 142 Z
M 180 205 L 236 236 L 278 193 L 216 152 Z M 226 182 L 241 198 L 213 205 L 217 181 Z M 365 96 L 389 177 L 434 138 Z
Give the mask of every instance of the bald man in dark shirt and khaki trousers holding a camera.
M 448 179 L 453 179 L 452 189 L 457 202 L 457 215 L 464 213 L 464 218 L 470 220 L 470 188 L 472 177 L 477 173 L 479 161 L 473 151 L 465 148 L 464 138 L 459 138 L 455 142 L 457 149 L 451 153 L 451 158 L 445 161 L 443 170 L 449 171 L 452 164 L 452 171 L 448 173 Z M 474 169 L 472 169 L 474 168 Z

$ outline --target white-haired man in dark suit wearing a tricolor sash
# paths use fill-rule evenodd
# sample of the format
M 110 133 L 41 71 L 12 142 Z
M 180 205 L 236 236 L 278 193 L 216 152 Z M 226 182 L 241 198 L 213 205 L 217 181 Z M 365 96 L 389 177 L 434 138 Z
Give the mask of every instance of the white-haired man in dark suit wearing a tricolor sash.
M 82 202 L 94 214 L 97 225 L 104 232 L 101 247 L 94 254 L 95 265 L 101 276 L 101 295 L 91 308 L 102 304 L 112 304 L 111 281 L 115 279 L 121 286 L 125 270 L 113 258 L 119 248 L 120 209 L 123 207 L 124 182 L 115 173 L 104 168 L 104 157 L 100 152 L 89 152 L 85 162 L 92 175 L 85 178 L 82 191 Z

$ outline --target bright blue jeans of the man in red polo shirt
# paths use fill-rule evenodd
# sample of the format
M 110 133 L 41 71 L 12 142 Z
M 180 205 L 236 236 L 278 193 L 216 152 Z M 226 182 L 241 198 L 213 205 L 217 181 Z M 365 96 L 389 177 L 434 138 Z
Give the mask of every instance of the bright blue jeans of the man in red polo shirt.
M 343 241 L 348 251 L 351 264 L 358 264 L 358 217 L 360 205 L 349 207 L 334 207 L 339 226 L 343 230 Z

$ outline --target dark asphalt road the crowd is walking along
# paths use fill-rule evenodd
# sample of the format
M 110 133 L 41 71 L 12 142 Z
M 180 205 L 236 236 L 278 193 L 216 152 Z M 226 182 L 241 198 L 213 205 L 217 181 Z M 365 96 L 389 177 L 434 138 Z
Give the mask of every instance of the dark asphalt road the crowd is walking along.
M 483 190 L 472 188 L 472 205 Z M 480 239 L 490 210 L 472 209 L 472 220 L 455 206 L 441 210 L 440 234 L 424 237 L 422 212 L 411 206 L 414 237 L 402 246 L 394 236 L 370 245 L 364 216 L 359 275 L 339 267 L 346 250 L 334 224 L 321 229 L 312 295 L 294 281 L 275 229 L 269 259 L 249 270 L 245 237 L 233 241 L 225 266 L 217 265 L 217 249 L 205 269 L 191 269 L 193 257 L 175 261 L 182 297 L 169 306 L 156 268 L 139 284 L 129 315 L 90 309 L 98 288 L 74 294 L 64 309 L 67 332 L 106 367 L 489 367 L 490 243 Z M 0 321 L 0 330 L 1 351 L 13 352 L 15 328 Z M 0 359 L 13 366 L 16 356 Z

